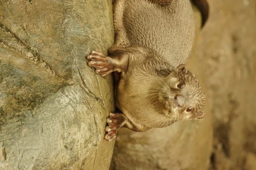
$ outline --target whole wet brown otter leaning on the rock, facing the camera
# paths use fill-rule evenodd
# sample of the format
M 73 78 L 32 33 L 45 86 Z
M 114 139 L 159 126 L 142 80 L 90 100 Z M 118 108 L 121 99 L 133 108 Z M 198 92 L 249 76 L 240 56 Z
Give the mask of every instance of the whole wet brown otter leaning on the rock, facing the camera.
M 207 3 L 194 1 L 204 9 L 203 26 Z M 109 56 L 97 51 L 87 56 L 96 74 L 113 72 L 115 80 L 119 111 L 109 113 L 106 140 L 115 139 L 121 127 L 143 132 L 204 117 L 204 90 L 185 65 L 194 42 L 194 22 L 189 0 L 114 1 L 115 42 Z

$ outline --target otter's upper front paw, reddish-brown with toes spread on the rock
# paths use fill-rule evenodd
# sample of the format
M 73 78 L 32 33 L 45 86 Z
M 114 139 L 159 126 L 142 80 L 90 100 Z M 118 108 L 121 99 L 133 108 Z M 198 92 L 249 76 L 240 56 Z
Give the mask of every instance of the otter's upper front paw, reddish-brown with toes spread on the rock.
M 86 58 L 91 60 L 87 62 L 87 64 L 90 67 L 96 68 L 96 74 L 101 74 L 102 77 L 115 71 L 113 59 L 111 59 L 111 57 L 105 56 L 100 52 L 92 51 Z

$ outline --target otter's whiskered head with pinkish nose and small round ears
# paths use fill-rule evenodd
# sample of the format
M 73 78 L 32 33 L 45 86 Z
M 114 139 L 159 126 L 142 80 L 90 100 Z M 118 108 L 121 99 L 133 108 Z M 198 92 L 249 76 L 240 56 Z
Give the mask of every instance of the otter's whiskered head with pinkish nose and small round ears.
M 179 65 L 161 83 L 158 98 L 163 104 L 163 113 L 173 121 L 202 119 L 205 94 L 198 78 Z

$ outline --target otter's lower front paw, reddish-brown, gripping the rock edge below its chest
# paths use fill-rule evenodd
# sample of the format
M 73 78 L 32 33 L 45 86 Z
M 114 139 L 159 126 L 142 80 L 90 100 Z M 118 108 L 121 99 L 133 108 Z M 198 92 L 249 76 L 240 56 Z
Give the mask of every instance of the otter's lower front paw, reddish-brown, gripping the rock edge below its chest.
M 124 127 L 126 124 L 125 115 L 123 113 L 109 113 L 109 118 L 106 121 L 108 126 L 105 127 L 105 138 L 108 141 L 112 141 L 116 138 L 117 130 Z

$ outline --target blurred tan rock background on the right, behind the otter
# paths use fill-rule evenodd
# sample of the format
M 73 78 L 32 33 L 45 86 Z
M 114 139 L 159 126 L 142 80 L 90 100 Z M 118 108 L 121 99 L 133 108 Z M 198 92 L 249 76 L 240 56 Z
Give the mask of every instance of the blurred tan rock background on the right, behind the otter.
M 255 6 L 209 0 L 209 20 L 188 61 L 207 94 L 206 116 L 145 133 L 120 130 L 111 170 L 254 170 Z

